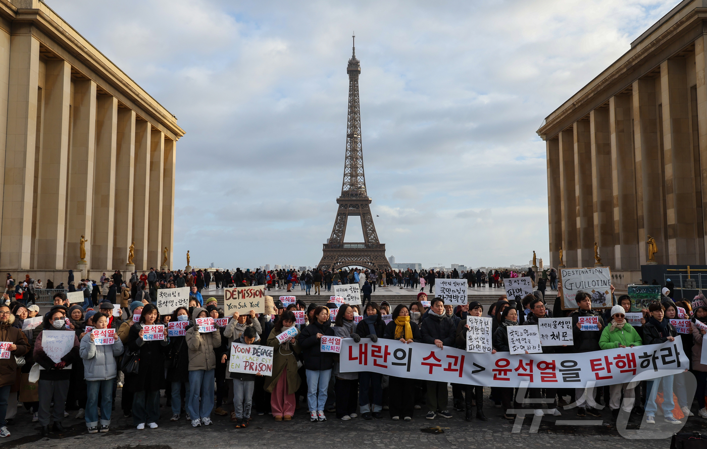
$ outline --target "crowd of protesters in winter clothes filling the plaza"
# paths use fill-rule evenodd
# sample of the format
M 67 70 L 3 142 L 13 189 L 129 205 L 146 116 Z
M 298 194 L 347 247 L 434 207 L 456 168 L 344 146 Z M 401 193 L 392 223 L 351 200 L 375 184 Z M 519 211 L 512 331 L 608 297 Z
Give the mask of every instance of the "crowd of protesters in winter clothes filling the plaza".
M 597 404 L 603 401 L 604 405 L 609 405 L 614 420 L 619 407 L 624 407 L 631 416 L 644 415 L 647 423 L 655 423 L 660 409 L 665 421 L 679 424 L 683 417 L 693 416 L 693 399 L 697 401 L 699 416 L 707 419 L 704 404 L 707 364 L 701 364 L 700 359 L 705 331 L 694 324 L 707 323 L 707 300 L 701 295 L 691 304 L 686 301 L 675 304 L 670 297 L 665 297 L 662 304 L 650 304 L 643 310 L 641 326 L 626 322 L 626 313 L 632 307 L 627 295 L 614 299 L 616 305 L 604 311 L 593 310 L 589 294 L 583 292 L 576 297 L 578 309 L 564 311 L 559 299 L 549 306 L 541 290 L 527 295 L 518 304 L 501 295 L 501 299 L 486 310 L 475 301 L 456 307 L 444 304 L 439 298 L 432 298 L 428 303 L 425 292 L 419 292 L 417 300 L 411 304 L 397 304 L 392 308 L 386 301 L 381 304 L 371 301 L 370 290 L 366 289 L 362 289 L 363 306 L 342 304 L 337 307 L 334 303 L 324 304 L 326 301 L 308 305 L 302 299 L 284 306 L 275 299 L 272 314 L 235 312 L 226 317 L 230 320 L 225 326 L 212 332 L 200 332 L 195 325 L 197 318 L 224 318 L 223 309 L 215 298 L 201 296 L 201 289 L 208 287 L 211 280 L 219 287 L 252 282 L 258 285 L 262 281 L 260 285 L 291 289 L 304 277 L 306 289 L 309 275 L 312 283 L 319 283 L 317 293 L 322 281 L 329 287 L 329 280 L 332 283 L 363 282 L 364 286 L 372 287 L 381 279 L 400 282 L 398 275 L 402 275 L 403 285 L 406 278 L 412 286 L 416 282 L 427 282 L 425 276 L 414 277 L 414 270 L 408 271 L 412 274 L 407 277 L 402 273 L 392 275 L 390 272 L 389 276 L 385 271 L 372 273 L 358 269 L 335 273 L 315 271 L 296 277 L 299 273 L 294 271 L 277 271 L 271 276 L 261 270 L 237 269 L 233 274 L 223 272 L 217 278 L 209 272 L 151 270 L 141 275 L 134 273 L 127 281 L 116 272 L 98 282 L 80 280 L 75 289 L 84 292 L 83 303 L 69 304 L 65 293 L 55 293 L 53 305 L 42 316 L 42 322 L 25 330 L 23 323 L 34 318 L 39 308 L 29 304 L 28 297 L 11 297 L 6 293 L 4 305 L 0 306 L 0 342 L 10 343 L 7 349 L 11 357 L 0 358 L 0 437 L 8 436 L 8 426 L 19 419 L 18 400 L 29 412 L 28 416 L 40 424 L 43 435 L 64 431 L 63 421 L 69 412 L 76 412 L 77 418 L 85 419 L 88 433 L 110 431 L 117 395 L 123 416 L 132 417 L 136 429 L 158 427 L 162 399 L 164 407 L 171 411 L 170 421 L 186 419 L 194 427 L 213 424 L 214 415 L 230 418 L 236 428 L 249 426 L 255 414 L 271 415 L 275 421 L 289 421 L 297 409 L 304 407 L 310 421 L 325 421 L 327 413 L 344 421 L 359 415 L 363 419 L 381 419 L 384 411 L 390 419 L 411 421 L 419 409 L 426 419 L 452 418 L 452 412 L 464 412 L 467 421 L 473 421 L 474 417 L 486 421 L 486 385 L 452 383 L 453 407 L 450 410 L 447 383 L 382 376 L 368 371 L 341 372 L 338 355 L 320 351 L 320 339 L 325 335 L 352 338 L 354 342 L 367 337 L 374 342 L 392 339 L 405 344 L 417 342 L 466 349 L 469 315 L 491 317 L 493 352 L 508 352 L 509 325 L 532 325 L 537 324 L 539 318 L 571 316 L 576 326 L 574 345 L 544 347 L 543 352 L 584 353 L 650 345 L 679 337 L 685 351 L 691 353 L 690 369 L 698 379 L 694 398 L 687 397 L 682 375 L 644 381 L 635 388 L 632 384 L 586 392 L 583 388 L 530 388 L 527 398 L 519 398 L 515 388 L 493 387 L 489 399 L 495 407 L 502 407 L 506 419 L 515 418 L 511 410 L 524 407 L 530 407 L 535 414 L 559 416 L 561 408 L 571 404 L 579 417 L 600 417 Z M 332 276 L 327 276 L 329 274 Z M 444 273 L 427 274 L 431 282 L 438 276 L 446 277 Z M 74 280 L 70 279 L 68 285 L 71 289 Z M 191 287 L 188 306 L 160 314 L 153 304 L 156 289 L 182 286 Z M 99 291 L 100 297 L 95 293 Z M 122 308 L 117 314 L 115 304 Z M 689 313 L 693 323 L 689 334 L 678 335 L 667 321 L 677 317 L 677 307 Z M 333 320 L 332 309 L 337 309 Z M 305 311 L 304 324 L 296 324 L 294 311 Z M 390 322 L 383 320 L 384 315 L 390 315 Z M 355 319 L 356 316 L 361 319 Z M 578 321 L 583 316 L 597 316 L 599 330 L 579 330 Z M 166 325 L 170 321 L 187 322 L 186 335 L 168 335 Z M 163 339 L 144 339 L 145 326 L 153 324 L 165 325 Z M 298 330 L 295 336 L 283 342 L 276 338 L 293 327 Z M 113 329 L 115 342 L 95 345 L 94 334 L 87 328 Z M 69 330 L 75 334 L 71 350 L 59 361 L 49 358 L 42 347 L 45 330 Z M 233 342 L 273 347 L 272 376 L 228 371 Z M 39 367 L 36 388 L 24 388 L 32 383 L 32 370 Z M 662 402 L 660 398 L 657 400 L 658 385 L 662 385 L 664 393 Z M 27 391 L 34 393 L 26 395 Z M 677 407 L 672 392 L 677 397 Z M 543 405 L 538 405 L 539 402 Z M 678 417 L 674 416 L 674 410 L 680 411 Z

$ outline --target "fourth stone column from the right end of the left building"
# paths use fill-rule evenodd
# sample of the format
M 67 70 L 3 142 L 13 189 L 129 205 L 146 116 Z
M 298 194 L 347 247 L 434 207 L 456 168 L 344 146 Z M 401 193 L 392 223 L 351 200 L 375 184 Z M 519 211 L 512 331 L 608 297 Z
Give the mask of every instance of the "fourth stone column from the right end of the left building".
M 132 244 L 134 162 L 135 112 L 118 109 L 113 266 L 119 269 L 127 265 L 128 249 Z

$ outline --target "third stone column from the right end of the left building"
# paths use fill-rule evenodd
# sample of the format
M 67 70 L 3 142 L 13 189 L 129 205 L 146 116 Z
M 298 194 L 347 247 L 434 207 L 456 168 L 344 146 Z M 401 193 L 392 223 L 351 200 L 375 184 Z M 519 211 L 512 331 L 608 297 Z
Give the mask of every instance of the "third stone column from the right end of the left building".
M 135 122 L 135 163 L 133 192 L 133 240 L 135 268 L 149 270 L 147 263 L 147 222 L 150 204 L 151 126 L 147 121 Z

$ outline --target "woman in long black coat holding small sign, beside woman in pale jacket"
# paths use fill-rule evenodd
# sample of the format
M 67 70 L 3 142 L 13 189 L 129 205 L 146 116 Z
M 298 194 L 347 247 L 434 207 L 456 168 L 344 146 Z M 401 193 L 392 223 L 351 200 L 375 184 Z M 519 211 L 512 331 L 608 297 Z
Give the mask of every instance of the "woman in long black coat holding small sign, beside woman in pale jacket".
M 160 418 L 160 389 L 165 383 L 165 354 L 168 352 L 167 328 L 159 323 L 160 313 L 154 304 L 146 304 L 140 321 L 130 328 L 127 352 L 139 357 L 138 372 L 126 373 L 126 384 L 134 393 L 133 424 L 138 430 L 157 429 Z M 161 332 L 160 332 L 161 328 Z M 124 357 L 129 357 L 125 354 Z

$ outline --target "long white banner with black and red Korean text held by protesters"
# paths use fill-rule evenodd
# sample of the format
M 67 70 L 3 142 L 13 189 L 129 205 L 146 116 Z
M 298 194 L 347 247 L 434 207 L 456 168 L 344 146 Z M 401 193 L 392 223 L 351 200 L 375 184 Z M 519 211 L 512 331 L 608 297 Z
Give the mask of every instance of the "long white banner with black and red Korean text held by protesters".
M 707 346 L 707 345 L 705 345 Z M 341 340 L 342 373 L 370 371 L 423 381 L 487 387 L 584 388 L 644 381 L 682 373 L 689 366 L 682 341 L 578 354 L 477 354 L 399 340 Z

